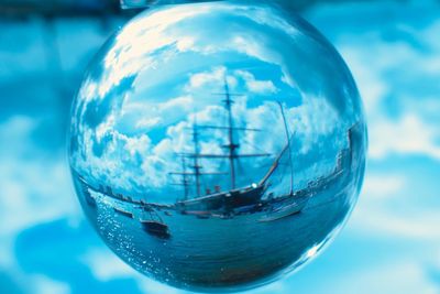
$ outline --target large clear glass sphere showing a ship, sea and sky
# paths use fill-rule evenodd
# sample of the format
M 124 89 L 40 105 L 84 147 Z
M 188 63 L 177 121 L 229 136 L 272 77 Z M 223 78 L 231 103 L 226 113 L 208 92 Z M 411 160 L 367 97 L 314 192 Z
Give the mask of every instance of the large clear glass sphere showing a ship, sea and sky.
M 73 106 L 81 206 L 128 264 L 193 291 L 256 287 L 344 224 L 365 165 L 350 70 L 266 4 L 154 8 L 116 33 Z

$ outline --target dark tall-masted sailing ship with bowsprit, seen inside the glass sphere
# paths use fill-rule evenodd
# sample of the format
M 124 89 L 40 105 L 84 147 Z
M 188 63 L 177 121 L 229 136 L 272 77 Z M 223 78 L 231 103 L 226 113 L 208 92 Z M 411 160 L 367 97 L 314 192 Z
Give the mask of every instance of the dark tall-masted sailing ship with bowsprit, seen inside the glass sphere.
M 191 214 L 197 215 L 199 217 L 204 217 L 204 215 L 210 215 L 212 211 L 218 211 L 221 214 L 222 217 L 227 217 L 228 215 L 233 215 L 234 210 L 243 209 L 243 208 L 256 208 L 255 205 L 258 205 L 265 190 L 268 187 L 268 178 L 275 172 L 275 170 L 279 165 L 279 160 L 282 156 L 289 151 L 290 149 L 290 137 L 287 129 L 286 119 L 284 116 L 283 107 L 279 104 L 282 109 L 282 115 L 284 119 L 284 126 L 286 130 L 287 143 L 282 152 L 276 156 L 274 162 L 272 163 L 271 168 L 267 173 L 263 176 L 263 178 L 258 183 L 252 183 L 244 187 L 237 187 L 237 171 L 235 164 L 239 159 L 242 157 L 263 157 L 270 156 L 268 153 L 253 153 L 253 154 L 240 154 L 238 150 L 240 149 L 239 138 L 235 134 L 238 131 L 261 131 L 258 129 L 250 129 L 250 128 L 241 128 L 234 126 L 234 119 L 232 116 L 232 96 L 241 96 L 237 94 L 231 94 L 229 91 L 228 83 L 224 81 L 224 92 L 220 94 L 224 95 L 226 99 L 224 109 L 228 112 L 228 126 L 199 126 L 197 122 L 193 126 L 193 143 L 194 143 L 194 152 L 193 153 L 180 153 L 182 156 L 182 166 L 183 171 L 180 172 L 173 172 L 173 175 L 179 175 L 183 177 L 182 182 L 179 183 L 184 186 L 184 198 L 182 200 L 176 202 L 175 207 L 182 214 Z M 228 142 L 222 148 L 226 149 L 228 152 L 224 154 L 205 154 L 200 153 L 199 148 L 199 130 L 200 129 L 217 129 L 217 130 L 224 130 L 227 131 Z M 289 156 L 292 156 L 292 152 L 288 152 Z M 211 193 L 209 189 L 207 190 L 207 195 L 201 196 L 200 192 L 200 177 L 202 175 L 217 175 L 217 174 L 228 174 L 228 173 L 205 173 L 201 172 L 202 166 L 200 165 L 200 159 L 210 159 L 210 160 L 224 160 L 229 161 L 229 175 L 230 175 L 230 188 L 228 190 L 220 190 L 220 185 L 215 186 L 215 193 Z M 190 165 L 191 172 L 187 170 L 187 160 L 193 161 L 193 165 Z M 293 166 L 292 166 L 292 159 L 290 159 L 290 172 L 292 172 L 292 181 L 293 181 Z M 191 181 L 188 177 L 195 178 L 195 186 L 196 186 L 196 196 L 189 197 L 189 186 Z M 293 194 L 293 183 L 290 183 L 290 194 Z

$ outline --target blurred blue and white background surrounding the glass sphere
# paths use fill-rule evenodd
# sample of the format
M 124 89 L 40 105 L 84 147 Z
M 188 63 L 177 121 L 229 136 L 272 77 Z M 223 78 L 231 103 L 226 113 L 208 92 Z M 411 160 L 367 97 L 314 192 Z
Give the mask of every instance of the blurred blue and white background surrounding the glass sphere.
M 288 2 L 353 72 L 369 164 L 358 207 L 328 250 L 251 293 L 440 293 L 440 2 Z M 68 173 L 72 98 L 133 13 L 105 0 L 0 0 L 1 294 L 184 293 L 107 249 Z

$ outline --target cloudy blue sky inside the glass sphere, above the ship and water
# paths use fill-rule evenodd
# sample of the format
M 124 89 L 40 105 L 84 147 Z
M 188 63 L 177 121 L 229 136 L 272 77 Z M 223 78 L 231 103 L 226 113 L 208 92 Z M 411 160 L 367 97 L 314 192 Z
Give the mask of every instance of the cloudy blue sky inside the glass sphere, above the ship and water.
M 182 168 L 176 154 L 194 149 L 186 129 L 195 120 L 227 126 L 223 98 L 212 95 L 224 91 L 227 79 L 231 92 L 244 94 L 232 97 L 235 126 L 262 130 L 240 133 L 238 153 L 273 155 L 241 160 L 250 172 L 238 174 L 239 186 L 257 183 L 286 145 L 277 101 L 295 133 L 296 170 L 329 173 L 337 153 L 348 146 L 349 128 L 362 120 L 359 94 L 340 56 L 319 34 L 271 12 L 211 2 L 130 22 L 94 61 L 78 91 L 73 167 L 96 185 L 174 202 L 169 172 Z M 200 131 L 200 153 L 223 154 L 224 134 Z M 200 164 L 206 172 L 228 168 L 221 163 Z M 213 177 L 228 185 L 228 177 Z

